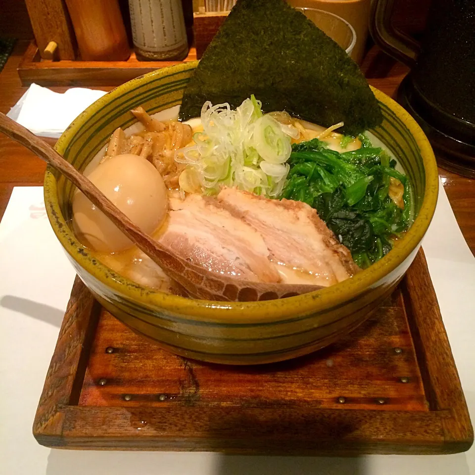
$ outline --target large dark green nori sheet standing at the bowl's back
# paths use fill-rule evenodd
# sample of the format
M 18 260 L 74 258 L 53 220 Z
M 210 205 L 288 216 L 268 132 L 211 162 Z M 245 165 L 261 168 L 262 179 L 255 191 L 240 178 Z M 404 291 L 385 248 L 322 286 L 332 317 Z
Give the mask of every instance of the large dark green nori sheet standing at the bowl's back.
M 284 0 L 238 0 L 207 47 L 183 96 L 180 120 L 205 101 L 236 108 L 254 94 L 266 112 L 285 110 L 356 135 L 379 125 L 380 107 L 358 65 Z

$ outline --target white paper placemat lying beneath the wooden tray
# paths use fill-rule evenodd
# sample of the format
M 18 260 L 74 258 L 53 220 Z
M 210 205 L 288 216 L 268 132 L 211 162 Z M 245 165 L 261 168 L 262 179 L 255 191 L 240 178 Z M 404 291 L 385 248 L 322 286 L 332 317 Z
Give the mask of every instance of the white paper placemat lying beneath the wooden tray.
M 440 187 L 424 250 L 475 421 L 475 259 Z M 13 190 L 0 223 L 1 475 L 475 475 L 475 448 L 437 456 L 355 458 L 48 449 L 32 424 L 74 280 L 41 187 Z

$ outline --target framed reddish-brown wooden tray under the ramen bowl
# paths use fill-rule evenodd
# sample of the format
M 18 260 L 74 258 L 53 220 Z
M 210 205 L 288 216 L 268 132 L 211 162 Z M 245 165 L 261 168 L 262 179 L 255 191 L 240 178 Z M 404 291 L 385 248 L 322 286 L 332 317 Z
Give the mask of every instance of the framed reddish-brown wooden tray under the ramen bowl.
M 49 447 L 294 455 L 444 454 L 474 440 L 422 250 L 366 324 L 253 367 L 161 350 L 77 278 L 33 432 Z

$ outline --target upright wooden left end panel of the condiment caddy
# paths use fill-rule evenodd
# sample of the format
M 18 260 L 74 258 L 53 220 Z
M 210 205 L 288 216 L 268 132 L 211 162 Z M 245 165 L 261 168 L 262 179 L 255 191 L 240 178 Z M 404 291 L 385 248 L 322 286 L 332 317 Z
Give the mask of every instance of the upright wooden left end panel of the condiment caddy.
M 76 39 L 63 0 L 25 0 L 40 54 L 50 41 L 58 45 L 59 59 L 74 59 Z

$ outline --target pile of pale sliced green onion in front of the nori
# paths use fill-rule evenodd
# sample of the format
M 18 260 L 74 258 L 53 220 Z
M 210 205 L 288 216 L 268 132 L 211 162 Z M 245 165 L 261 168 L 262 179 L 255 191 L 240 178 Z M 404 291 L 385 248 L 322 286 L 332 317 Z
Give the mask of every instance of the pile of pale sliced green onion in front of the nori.
M 264 115 L 253 95 L 236 110 L 228 103 L 206 102 L 201 125 L 203 132 L 193 135 L 194 143 L 175 153 L 175 160 L 186 164 L 185 171 L 192 171 L 193 184 L 198 182 L 201 192 L 216 193 L 221 186 L 260 190 L 267 197 L 282 192 L 294 128 Z

